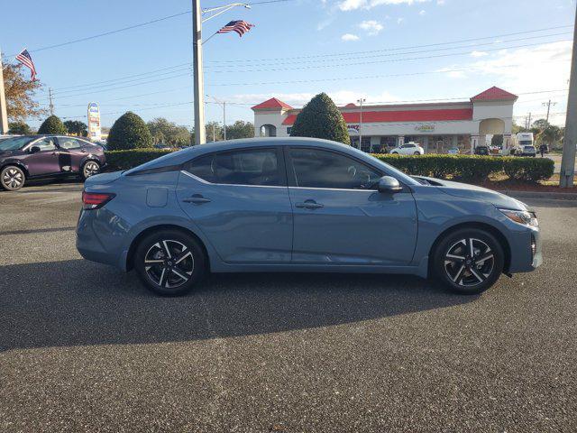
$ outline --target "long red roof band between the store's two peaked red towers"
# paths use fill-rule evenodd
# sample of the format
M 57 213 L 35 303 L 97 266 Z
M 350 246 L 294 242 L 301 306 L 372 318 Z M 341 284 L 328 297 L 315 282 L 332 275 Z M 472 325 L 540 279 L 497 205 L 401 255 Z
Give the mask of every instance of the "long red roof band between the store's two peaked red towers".
M 361 122 L 361 113 L 343 113 L 347 124 Z M 289 115 L 282 124 L 294 124 L 297 115 Z M 448 110 L 405 110 L 405 111 L 364 111 L 362 123 L 378 122 L 435 122 L 443 120 L 472 120 L 471 108 Z

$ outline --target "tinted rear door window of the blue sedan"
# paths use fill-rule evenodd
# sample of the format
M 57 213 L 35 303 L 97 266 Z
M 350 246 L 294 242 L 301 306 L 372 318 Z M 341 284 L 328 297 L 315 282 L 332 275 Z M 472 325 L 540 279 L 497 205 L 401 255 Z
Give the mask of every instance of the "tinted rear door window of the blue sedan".
M 275 149 L 211 153 L 190 161 L 186 170 L 211 183 L 257 186 L 284 184 Z

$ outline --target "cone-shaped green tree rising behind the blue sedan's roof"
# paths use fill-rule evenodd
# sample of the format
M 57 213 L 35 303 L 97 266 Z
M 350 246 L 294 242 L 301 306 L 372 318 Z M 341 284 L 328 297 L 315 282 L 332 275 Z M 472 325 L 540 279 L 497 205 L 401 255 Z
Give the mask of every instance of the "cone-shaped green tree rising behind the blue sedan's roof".
M 316 95 L 303 107 L 292 126 L 290 136 L 324 138 L 351 144 L 343 115 L 325 93 Z

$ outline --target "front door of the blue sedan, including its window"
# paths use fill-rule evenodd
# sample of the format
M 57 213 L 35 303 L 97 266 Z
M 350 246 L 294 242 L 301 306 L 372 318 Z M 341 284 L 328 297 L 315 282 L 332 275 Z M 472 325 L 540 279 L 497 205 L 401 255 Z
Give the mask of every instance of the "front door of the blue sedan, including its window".
M 294 215 L 293 263 L 407 265 L 417 243 L 408 188 L 371 188 L 384 174 L 342 152 L 287 150 Z

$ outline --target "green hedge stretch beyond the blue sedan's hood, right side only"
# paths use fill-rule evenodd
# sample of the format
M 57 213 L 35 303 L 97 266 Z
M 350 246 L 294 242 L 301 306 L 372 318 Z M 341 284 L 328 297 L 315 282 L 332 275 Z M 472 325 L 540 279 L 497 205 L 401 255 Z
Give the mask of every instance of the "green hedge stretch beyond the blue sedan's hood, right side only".
M 485 180 L 505 172 L 509 179 L 536 182 L 553 176 L 554 161 L 548 158 L 479 155 L 373 155 L 408 174 L 440 179 Z

